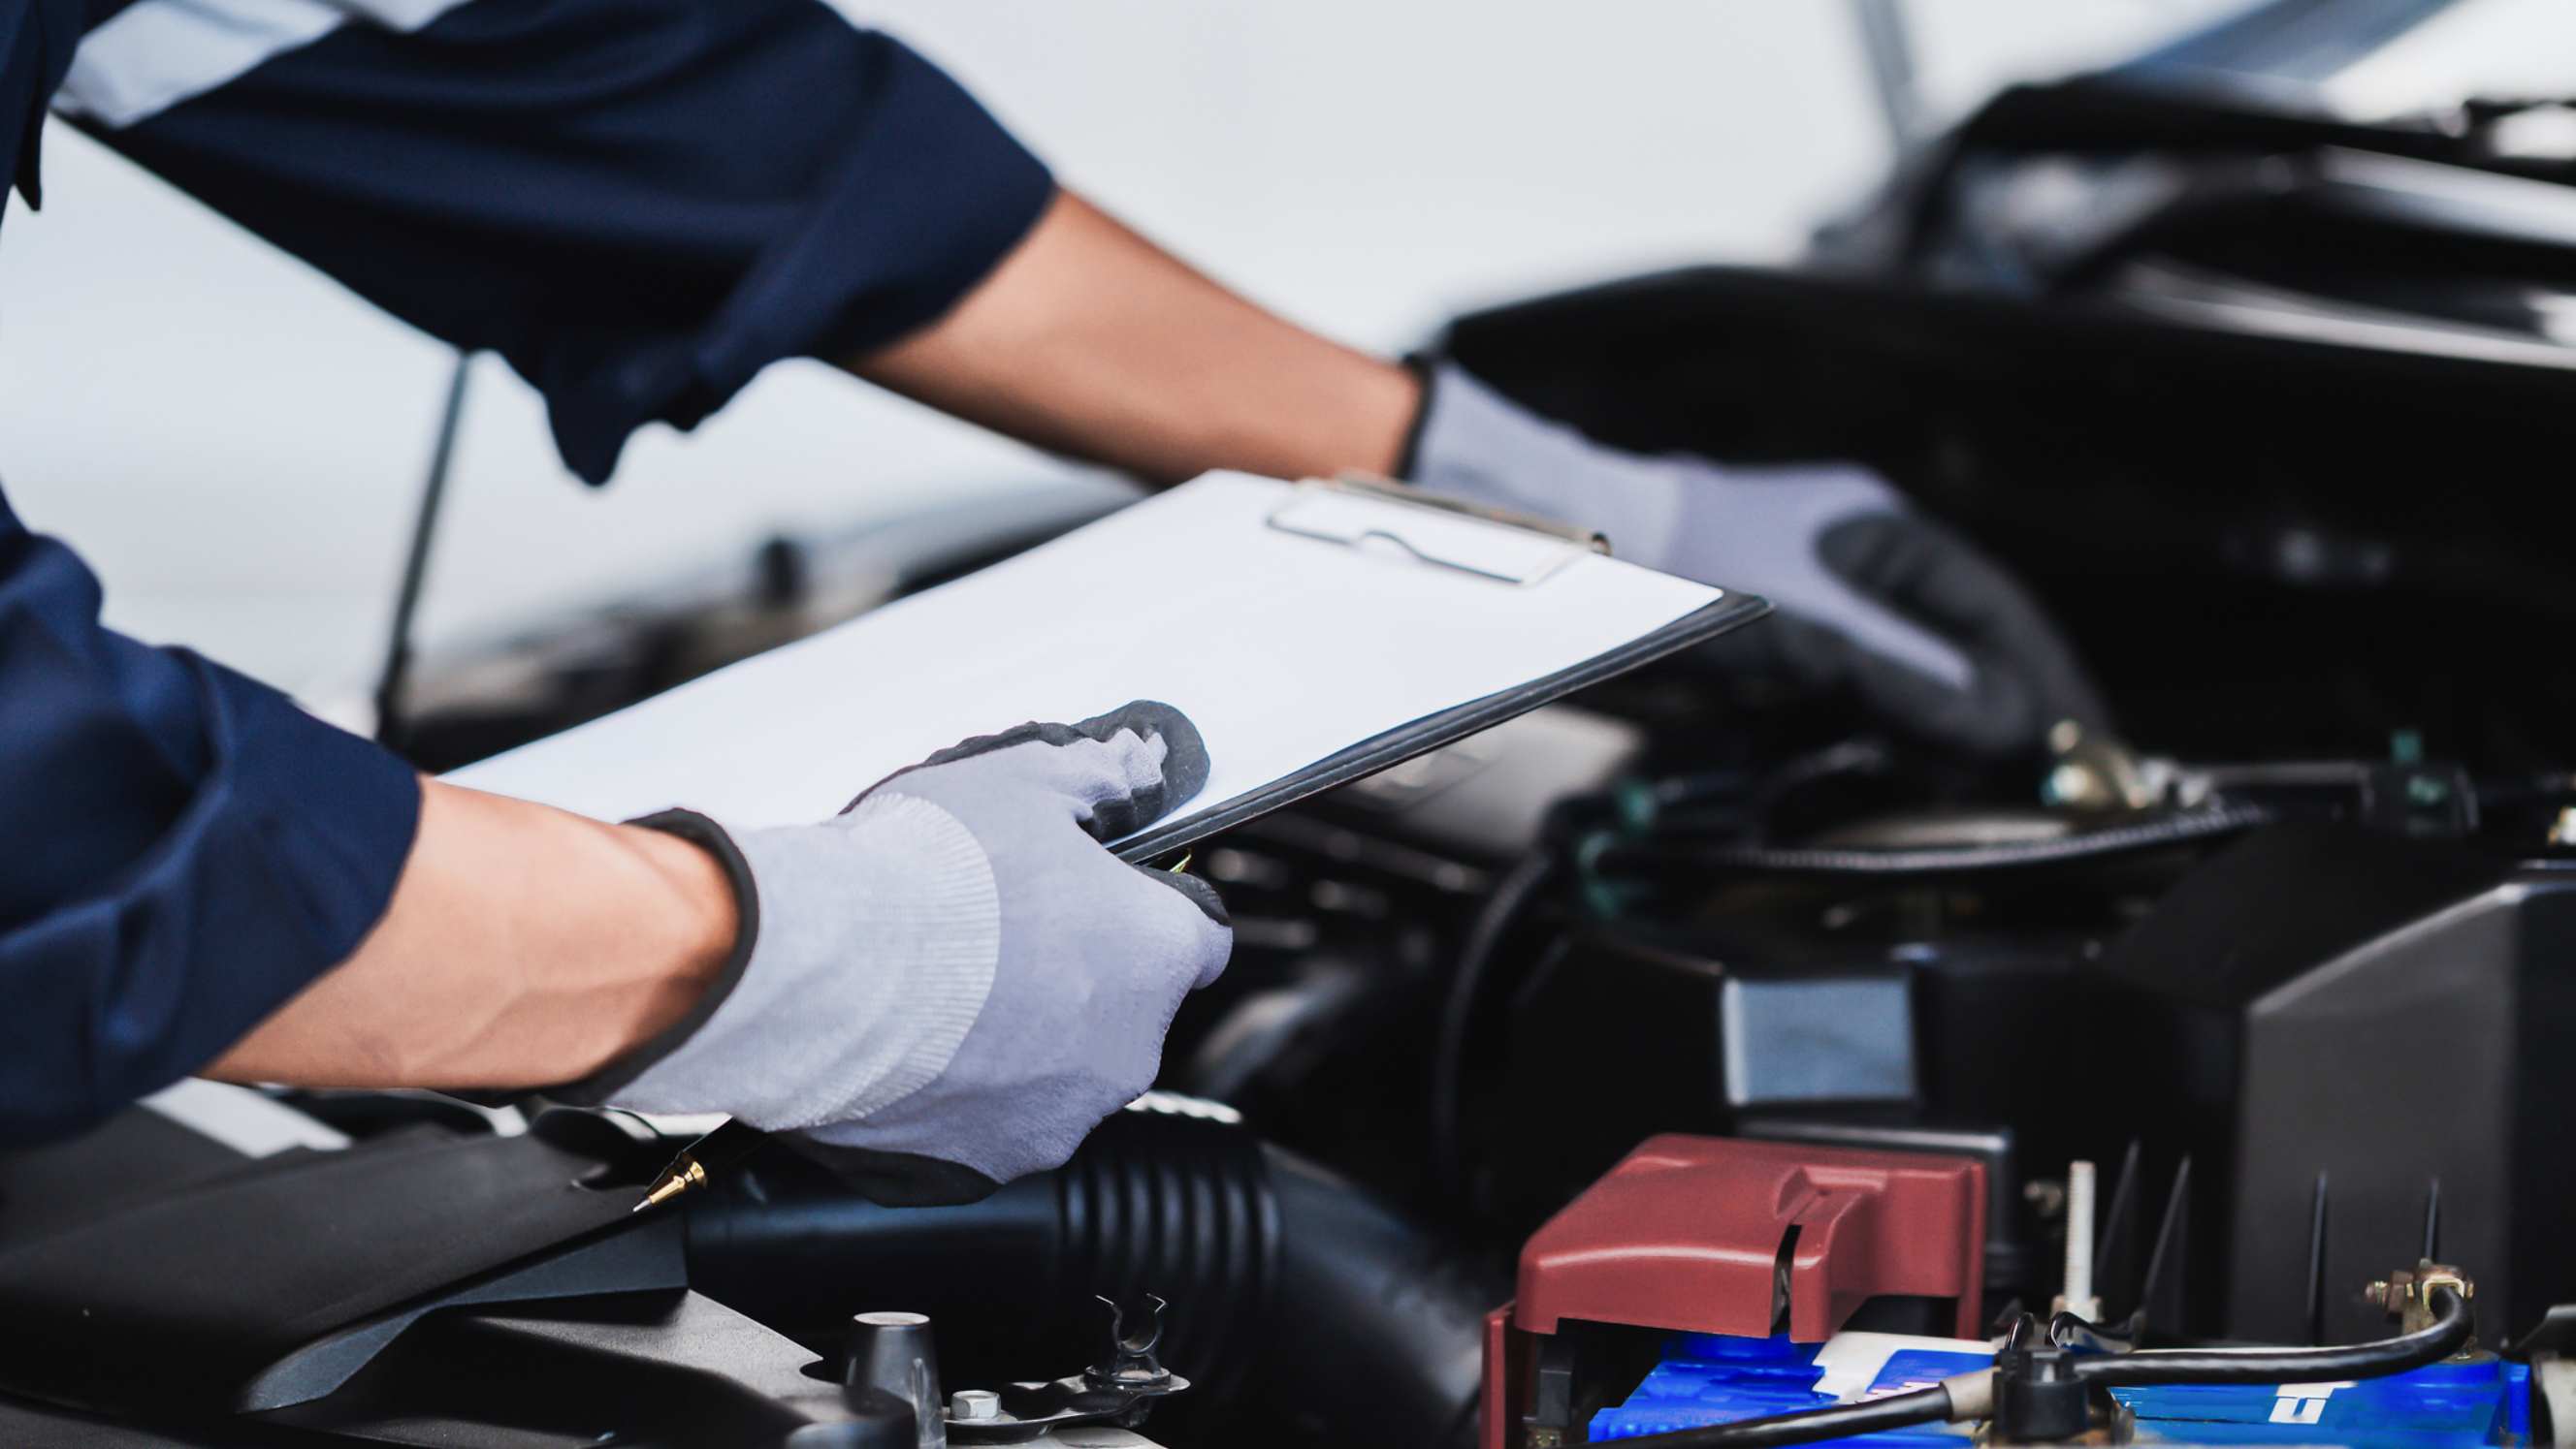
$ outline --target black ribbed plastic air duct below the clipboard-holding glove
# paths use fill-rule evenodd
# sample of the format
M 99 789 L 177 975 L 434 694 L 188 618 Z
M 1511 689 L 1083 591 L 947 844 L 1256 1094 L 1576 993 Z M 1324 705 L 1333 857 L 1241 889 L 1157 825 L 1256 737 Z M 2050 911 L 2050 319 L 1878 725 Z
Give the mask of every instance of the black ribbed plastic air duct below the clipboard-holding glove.
M 1388 1449 L 1471 1441 L 1484 1313 L 1504 1297 L 1324 1168 L 1144 1109 L 966 1207 L 878 1207 L 762 1150 L 690 1210 L 688 1261 L 693 1287 L 824 1354 L 853 1313 L 927 1313 L 948 1387 L 1087 1367 L 1108 1346 L 1097 1297 L 1159 1295 L 1162 1359 L 1195 1387 L 1157 1431 Z

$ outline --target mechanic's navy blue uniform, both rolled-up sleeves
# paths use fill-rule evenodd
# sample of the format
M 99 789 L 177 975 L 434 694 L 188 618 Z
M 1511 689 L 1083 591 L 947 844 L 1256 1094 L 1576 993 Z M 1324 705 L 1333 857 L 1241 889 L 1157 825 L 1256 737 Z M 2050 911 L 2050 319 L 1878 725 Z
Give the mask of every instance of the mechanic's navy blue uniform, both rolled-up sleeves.
M 819 0 L 0 0 L 0 183 L 44 106 L 386 311 L 495 350 L 564 461 L 948 309 L 1046 170 Z M 183 649 L 0 497 L 0 1143 L 219 1055 L 384 914 L 420 788 Z

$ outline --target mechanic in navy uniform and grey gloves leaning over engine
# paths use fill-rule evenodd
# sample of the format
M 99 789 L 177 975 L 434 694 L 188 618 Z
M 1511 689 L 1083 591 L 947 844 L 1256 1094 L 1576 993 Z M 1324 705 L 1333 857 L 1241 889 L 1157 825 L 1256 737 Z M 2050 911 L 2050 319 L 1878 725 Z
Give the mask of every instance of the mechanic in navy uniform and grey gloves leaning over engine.
M 1144 479 L 1365 468 L 1587 520 L 1770 595 L 1770 667 L 1973 752 L 2094 713 L 2030 600 L 1875 476 L 1623 456 L 1301 332 L 819 0 L 0 0 L 0 180 L 31 206 L 46 106 L 507 358 L 592 484 L 636 427 L 822 358 Z M 963 1197 L 1139 1094 L 1229 950 L 1213 893 L 1100 847 L 1203 777 L 1159 705 L 734 839 L 422 780 L 98 602 L 0 502 L 0 1143 L 185 1073 L 551 1084 Z

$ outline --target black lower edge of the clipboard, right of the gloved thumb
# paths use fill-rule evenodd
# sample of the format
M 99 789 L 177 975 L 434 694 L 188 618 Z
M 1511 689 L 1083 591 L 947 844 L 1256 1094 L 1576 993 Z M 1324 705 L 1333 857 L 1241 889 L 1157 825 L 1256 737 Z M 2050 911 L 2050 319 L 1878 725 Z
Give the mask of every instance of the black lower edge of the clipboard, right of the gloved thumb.
M 1602 679 L 1615 679 L 1618 674 L 1654 664 L 1667 654 L 1680 654 L 1695 643 L 1744 628 L 1767 613 L 1770 600 L 1757 595 L 1726 595 L 1723 600 L 1695 607 L 1643 638 L 1631 638 L 1607 654 L 1595 654 L 1571 669 L 1558 669 L 1543 679 L 1530 679 L 1528 685 L 1515 685 L 1481 700 L 1468 700 L 1435 715 L 1422 715 L 1414 723 L 1396 726 L 1381 736 L 1363 739 L 1340 754 L 1329 754 L 1285 780 L 1273 780 L 1260 790 L 1247 790 L 1224 806 L 1185 821 L 1149 829 L 1128 842 L 1121 842 L 1115 847 L 1118 860 L 1144 865 L 1159 854 L 1193 847 L 1213 834 L 1231 831 L 1244 821 L 1267 816 L 1280 806 L 1293 806 L 1306 795 L 1332 790 L 1334 785 L 1350 785 L 1352 780 L 1363 780 L 1391 764 L 1404 764 L 1417 754 L 1430 754 L 1443 744 L 1455 744 L 1471 734 L 1489 731 L 1502 721 L 1520 718 L 1538 705 L 1553 705 L 1577 690 L 1600 685 Z

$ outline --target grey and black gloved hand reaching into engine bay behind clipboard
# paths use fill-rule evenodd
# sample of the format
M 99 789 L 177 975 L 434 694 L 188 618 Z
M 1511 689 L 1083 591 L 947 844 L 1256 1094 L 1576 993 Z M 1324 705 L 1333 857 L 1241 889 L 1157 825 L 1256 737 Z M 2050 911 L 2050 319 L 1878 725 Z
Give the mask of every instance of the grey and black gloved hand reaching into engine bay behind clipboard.
M 1620 453 L 1455 365 L 1432 371 L 1422 407 L 1414 484 L 1579 520 L 1620 558 L 1777 605 L 1716 641 L 1721 667 L 1850 685 L 1891 723 L 1984 757 L 2038 749 L 2061 718 L 2107 723 L 2040 605 L 1868 468 Z

